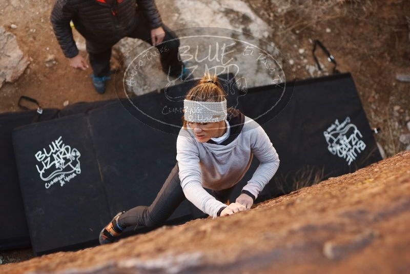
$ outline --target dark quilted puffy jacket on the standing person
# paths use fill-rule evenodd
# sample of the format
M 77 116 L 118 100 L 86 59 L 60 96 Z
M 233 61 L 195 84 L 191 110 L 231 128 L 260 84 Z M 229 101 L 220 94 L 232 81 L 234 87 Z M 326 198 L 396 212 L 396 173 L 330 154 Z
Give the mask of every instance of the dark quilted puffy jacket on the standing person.
M 115 43 L 138 24 L 136 4 L 148 18 L 151 29 L 161 26 L 154 0 L 114 0 L 112 5 L 97 0 L 56 0 L 50 20 L 64 55 L 71 58 L 78 54 L 71 20 L 87 40 Z

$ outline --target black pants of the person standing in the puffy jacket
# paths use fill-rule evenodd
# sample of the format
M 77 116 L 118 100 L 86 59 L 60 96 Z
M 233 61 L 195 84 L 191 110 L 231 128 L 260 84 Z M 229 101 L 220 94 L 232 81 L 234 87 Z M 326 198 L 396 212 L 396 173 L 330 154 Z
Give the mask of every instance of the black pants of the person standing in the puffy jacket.
M 151 29 L 148 25 L 148 19 L 142 12 L 138 12 L 137 16 L 139 17 L 138 25 L 130 30 L 127 37 L 139 38 L 151 42 Z M 171 74 L 179 74 L 182 68 L 182 62 L 179 60 L 178 52 L 179 40 L 176 34 L 166 25 L 162 24 L 161 27 L 165 31 L 165 37 L 163 38 L 163 42 L 155 47 L 160 52 L 162 70 L 168 73 L 170 69 Z M 94 76 L 103 77 L 109 75 L 111 49 L 118 41 L 119 40 L 112 40 L 110 38 L 104 43 L 86 40 L 87 52 L 90 57 L 90 65 L 93 69 Z

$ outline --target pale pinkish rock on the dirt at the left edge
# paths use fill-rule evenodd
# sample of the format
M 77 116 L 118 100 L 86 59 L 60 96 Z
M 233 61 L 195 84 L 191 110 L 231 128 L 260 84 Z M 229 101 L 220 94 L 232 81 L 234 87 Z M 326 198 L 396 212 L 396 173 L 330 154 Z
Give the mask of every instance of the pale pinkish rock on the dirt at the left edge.
M 16 36 L 0 27 L 0 88 L 23 74 L 30 61 L 19 49 Z

